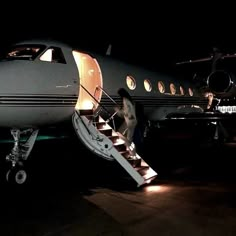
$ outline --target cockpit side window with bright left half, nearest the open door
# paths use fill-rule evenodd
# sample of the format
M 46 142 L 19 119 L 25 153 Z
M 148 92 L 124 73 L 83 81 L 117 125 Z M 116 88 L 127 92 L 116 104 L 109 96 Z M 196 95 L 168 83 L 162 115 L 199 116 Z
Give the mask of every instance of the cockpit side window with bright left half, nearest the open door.
M 62 50 L 58 47 L 48 48 L 39 58 L 41 61 L 48 61 L 54 63 L 66 63 Z

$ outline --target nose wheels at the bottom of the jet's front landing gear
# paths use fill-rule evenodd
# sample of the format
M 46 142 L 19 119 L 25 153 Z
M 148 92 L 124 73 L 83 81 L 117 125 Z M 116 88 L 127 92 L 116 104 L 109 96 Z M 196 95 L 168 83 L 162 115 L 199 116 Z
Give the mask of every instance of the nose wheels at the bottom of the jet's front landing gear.
M 27 179 L 27 173 L 23 168 L 13 168 L 8 170 L 6 180 L 13 184 L 23 184 Z

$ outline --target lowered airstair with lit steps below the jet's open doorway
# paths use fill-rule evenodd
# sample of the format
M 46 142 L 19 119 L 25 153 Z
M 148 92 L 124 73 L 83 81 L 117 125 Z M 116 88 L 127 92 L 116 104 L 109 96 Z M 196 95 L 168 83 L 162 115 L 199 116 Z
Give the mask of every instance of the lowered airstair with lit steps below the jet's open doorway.
M 102 106 L 97 111 L 75 110 L 72 120 L 79 139 L 96 155 L 109 161 L 116 160 L 138 187 L 150 183 L 157 173 L 137 153 L 130 157 L 124 136 L 110 125 L 116 113 L 105 120 L 100 115 L 101 110 Z

